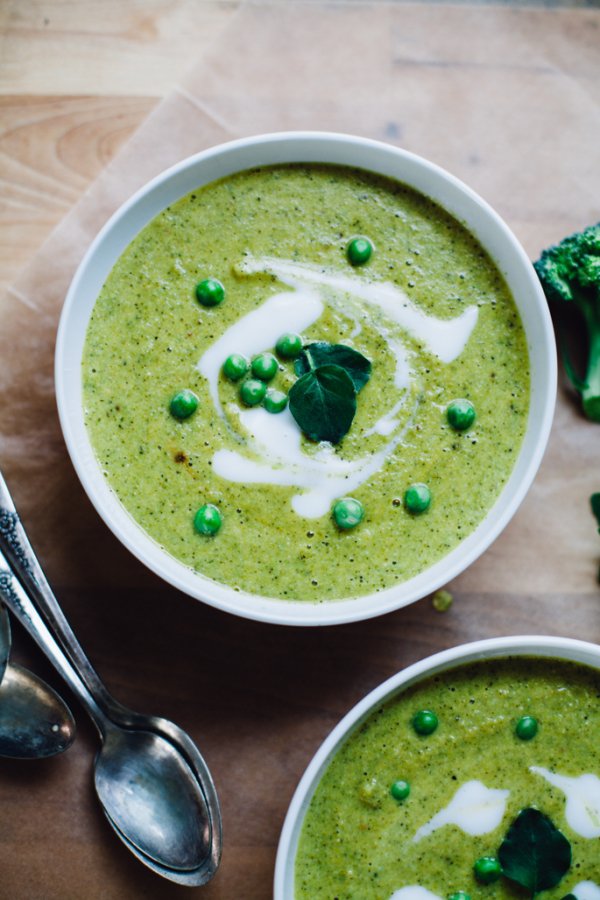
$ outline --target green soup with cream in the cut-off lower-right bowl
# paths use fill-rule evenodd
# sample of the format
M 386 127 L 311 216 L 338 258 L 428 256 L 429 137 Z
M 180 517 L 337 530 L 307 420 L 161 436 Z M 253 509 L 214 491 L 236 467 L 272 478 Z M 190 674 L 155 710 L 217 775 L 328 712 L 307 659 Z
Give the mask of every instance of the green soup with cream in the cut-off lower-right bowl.
M 438 719 L 429 735 L 412 724 L 422 710 Z M 520 738 L 526 716 L 537 732 Z M 482 884 L 474 874 L 478 859 L 497 858 L 511 823 L 531 807 L 572 854 L 540 896 L 597 898 L 599 748 L 600 673 L 591 668 L 503 659 L 409 688 L 370 715 L 326 770 L 303 824 L 296 900 L 389 900 L 396 892 L 398 900 L 425 900 L 423 890 L 440 898 L 464 891 L 473 900 L 531 896 L 507 877 Z M 395 789 L 400 799 L 391 790 L 398 781 L 409 786 L 407 796 Z M 486 804 L 489 821 L 481 819 Z M 454 813 L 444 813 L 451 805 Z

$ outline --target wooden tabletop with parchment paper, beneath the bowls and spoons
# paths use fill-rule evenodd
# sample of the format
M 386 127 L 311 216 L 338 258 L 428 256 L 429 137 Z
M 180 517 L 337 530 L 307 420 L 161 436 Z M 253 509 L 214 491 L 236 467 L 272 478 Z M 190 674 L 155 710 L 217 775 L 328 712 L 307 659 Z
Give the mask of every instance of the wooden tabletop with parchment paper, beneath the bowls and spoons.
M 313 124 L 387 137 L 430 156 L 484 192 L 532 255 L 592 220 L 593 197 L 600 194 L 591 137 L 597 138 L 599 121 L 597 11 L 471 14 L 449 8 L 439 18 L 435 6 L 426 14 L 412 6 L 399 14 L 393 4 L 310 6 L 310 14 L 292 22 L 285 12 L 261 16 L 235 3 L 5 0 L 0 286 L 28 262 L 40 283 L 43 270 L 35 267 L 43 256 L 35 254 L 42 240 L 100 173 L 105 181 L 87 209 L 98 203 L 104 185 L 121 183 L 130 162 L 112 163 L 112 181 L 107 166 L 110 178 L 119 148 L 182 81 L 177 102 L 194 87 L 195 106 L 210 123 L 203 125 L 205 140 Z M 341 81 L 318 68 L 329 55 L 323 32 L 334 26 L 373 38 L 364 39 L 363 54 L 351 40 L 339 42 L 349 45 L 346 55 L 336 43 Z M 296 57 L 292 32 L 303 41 L 294 45 Z M 253 42 L 255 56 L 248 50 Z M 276 66 L 269 69 L 265 47 L 281 64 L 294 57 L 288 80 Z M 185 81 L 187 69 L 203 57 L 193 84 Z M 488 97 L 497 100 L 492 111 L 475 92 L 475 83 L 488 77 Z M 404 84 L 406 94 L 392 96 L 392 85 L 401 92 Z M 356 102 L 349 111 L 348 92 Z M 547 96 L 562 98 L 570 110 L 562 136 L 554 100 L 538 102 Z M 513 101 L 529 130 L 511 118 Z M 452 130 L 436 127 L 438 113 Z M 144 136 L 181 121 L 179 107 L 168 102 L 154 116 L 134 142 L 138 156 L 140 146 L 148 148 Z M 561 140 L 568 142 L 564 152 L 552 156 Z M 182 152 L 188 152 L 185 141 L 182 135 Z M 556 182 L 562 175 L 562 193 L 553 193 L 558 185 L 549 184 L 548 171 Z M 64 258 L 69 270 L 69 251 L 59 233 L 54 269 Z M 67 282 L 70 274 L 62 273 Z M 523 633 L 600 640 L 600 542 L 587 506 L 600 488 L 600 432 L 581 420 L 563 390 L 533 490 L 502 537 L 451 585 L 449 612 L 437 613 L 424 599 L 335 629 L 259 625 L 166 587 L 100 522 L 66 455 L 52 399 L 60 296 L 45 305 L 43 291 L 32 297 L 27 283 L 20 280 L 0 301 L 0 344 L 12 329 L 12 353 L 6 339 L 0 357 L 0 465 L 108 687 L 133 708 L 173 719 L 201 747 L 222 802 L 224 854 L 215 880 L 195 892 L 157 879 L 135 861 L 95 802 L 97 739 L 74 704 L 79 733 L 68 753 L 36 763 L 0 760 L 0 900 L 268 898 L 279 831 L 298 778 L 332 726 L 368 690 L 408 663 L 469 640 Z M 25 364 L 32 347 L 35 358 Z M 59 687 L 41 655 L 14 630 L 15 657 Z

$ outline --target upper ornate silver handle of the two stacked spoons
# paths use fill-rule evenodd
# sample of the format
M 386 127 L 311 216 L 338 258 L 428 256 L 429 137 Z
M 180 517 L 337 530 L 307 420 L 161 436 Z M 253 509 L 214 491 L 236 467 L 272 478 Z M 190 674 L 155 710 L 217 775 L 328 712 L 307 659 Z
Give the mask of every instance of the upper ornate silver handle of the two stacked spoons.
M 75 637 L 23 528 L 0 472 L 0 550 L 30 595 L 30 603 L 48 626 L 63 654 L 78 673 L 95 705 L 109 718 L 125 712 L 107 691 Z M 18 615 L 18 613 L 15 613 Z M 24 623 L 25 624 L 25 623 Z M 27 626 L 26 626 L 27 627 Z M 33 634 L 33 637 L 37 637 Z M 44 649 L 44 647 L 42 647 Z

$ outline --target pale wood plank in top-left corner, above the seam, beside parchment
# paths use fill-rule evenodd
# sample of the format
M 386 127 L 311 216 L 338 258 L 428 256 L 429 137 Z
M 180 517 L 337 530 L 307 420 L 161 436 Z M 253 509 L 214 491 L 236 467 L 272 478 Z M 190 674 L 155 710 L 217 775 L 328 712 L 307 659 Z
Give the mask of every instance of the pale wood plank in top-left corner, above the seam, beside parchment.
M 0 94 L 163 97 L 211 46 L 228 0 L 8 0 Z M 49 90 L 51 85 L 51 90 Z

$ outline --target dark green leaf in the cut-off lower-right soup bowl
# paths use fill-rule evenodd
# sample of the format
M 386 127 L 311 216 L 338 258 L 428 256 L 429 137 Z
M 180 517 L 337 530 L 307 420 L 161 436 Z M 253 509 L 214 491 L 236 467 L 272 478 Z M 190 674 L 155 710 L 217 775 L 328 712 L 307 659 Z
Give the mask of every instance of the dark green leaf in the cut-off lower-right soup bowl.
M 502 873 L 534 894 L 554 887 L 571 867 L 571 845 L 539 809 L 522 809 L 498 851 Z

